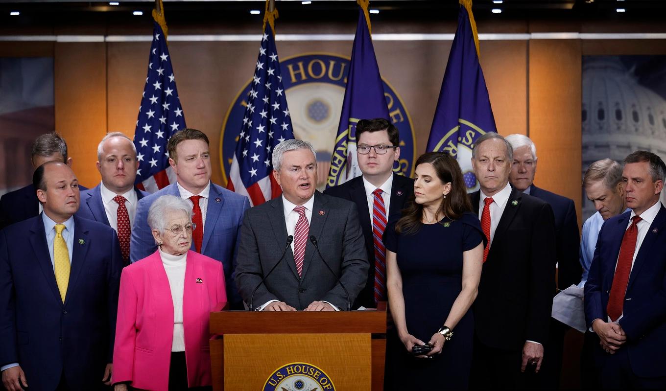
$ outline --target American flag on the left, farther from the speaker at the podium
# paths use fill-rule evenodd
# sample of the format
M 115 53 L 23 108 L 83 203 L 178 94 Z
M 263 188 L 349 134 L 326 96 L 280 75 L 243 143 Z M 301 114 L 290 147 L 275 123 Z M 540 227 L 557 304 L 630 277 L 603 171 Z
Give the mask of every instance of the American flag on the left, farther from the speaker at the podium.
M 134 145 L 137 146 L 139 160 L 136 184 L 139 187 L 143 185 L 145 190 L 153 193 L 176 182 L 176 176 L 168 164 L 166 142 L 172 134 L 184 128 L 185 117 L 178 99 L 166 37 L 156 21 L 148 60 L 148 76 L 134 131 Z

